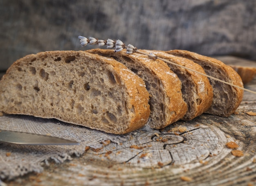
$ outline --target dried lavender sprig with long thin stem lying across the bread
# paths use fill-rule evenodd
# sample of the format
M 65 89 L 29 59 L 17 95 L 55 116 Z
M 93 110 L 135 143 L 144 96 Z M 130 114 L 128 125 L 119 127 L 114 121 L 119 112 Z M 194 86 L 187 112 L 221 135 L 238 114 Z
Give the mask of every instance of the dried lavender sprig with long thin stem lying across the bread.
M 85 37 L 83 37 L 83 36 L 79 36 L 79 39 L 80 39 L 80 43 L 81 43 L 81 45 L 82 45 L 82 43 L 85 42 L 84 40 L 87 39 L 87 38 L 85 38 Z M 88 41 L 89 41 L 89 40 L 88 40 Z M 89 41 L 89 42 L 90 42 L 90 41 Z M 89 42 L 88 42 L 88 43 L 89 43 Z M 117 43 L 118 43 L 118 44 L 117 44 Z M 87 44 L 85 44 L 84 46 L 86 46 L 86 45 L 87 45 Z M 83 45 L 82 45 L 82 46 L 83 46 Z M 155 54 L 153 54 L 153 53 L 146 53 L 146 52 L 139 51 L 139 50 L 137 49 L 137 47 L 135 47 L 135 46 L 133 46 L 133 45 L 131 45 L 131 44 L 128 44 L 128 46 L 125 46 L 125 44 L 124 44 L 121 40 L 114 41 L 114 40 L 108 39 L 108 40 L 107 40 L 107 48 L 110 49 L 110 48 L 114 48 L 114 47 L 116 47 L 115 52 L 119 52 L 119 51 L 123 50 L 124 48 L 126 48 L 126 53 L 127 53 L 127 54 L 132 54 L 132 53 L 137 52 L 137 53 L 141 53 L 141 54 L 144 54 L 144 55 L 148 55 L 148 57 L 150 57 L 150 58 L 162 60 L 162 61 L 164 61 L 164 62 L 166 62 L 166 63 L 170 63 L 170 64 L 173 64 L 173 65 L 179 66 L 179 67 L 181 67 L 181 68 L 184 68 L 184 69 L 186 69 L 186 70 L 193 71 L 193 72 L 198 73 L 198 74 L 200 74 L 200 75 L 204 75 L 204 76 L 206 76 L 207 78 L 211 78 L 211 79 L 213 79 L 213 80 L 216 80 L 216 81 L 219 81 L 219 82 L 228 84 L 228 85 L 230 85 L 230 86 L 234 86 L 234 87 L 236 87 L 236 88 L 238 88 L 238 89 L 242 89 L 242 90 L 244 90 L 244 91 L 247 91 L 247 92 L 256 94 L 256 92 L 251 91 L 251 90 L 249 90 L 249 89 L 245 89 L 245 88 L 240 87 L 240 86 L 237 86 L 237 85 L 235 85 L 235 84 L 232 84 L 232 83 L 229 83 L 229 82 L 225 82 L 225 81 L 220 80 L 220 79 L 218 79 L 218 78 L 214 78 L 214 77 L 212 77 L 212 76 L 210 76 L 210 75 L 207 75 L 207 74 L 204 74 L 204 73 L 195 71 L 195 70 L 193 70 L 193 69 L 189 69 L 189 68 L 186 67 L 186 66 L 182 66 L 182 65 L 180 65 L 180 64 L 176 64 L 176 63 L 171 62 L 171 61 L 168 61 L 168 60 L 166 60 L 166 59 L 164 59 L 164 58 L 159 58 L 157 55 L 155 55 Z

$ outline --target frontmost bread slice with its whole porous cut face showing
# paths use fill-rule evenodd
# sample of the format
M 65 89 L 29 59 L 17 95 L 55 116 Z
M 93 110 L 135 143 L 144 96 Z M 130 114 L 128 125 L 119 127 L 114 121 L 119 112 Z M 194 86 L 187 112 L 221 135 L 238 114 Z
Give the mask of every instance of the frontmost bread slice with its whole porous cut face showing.
M 0 111 L 124 134 L 144 126 L 149 93 L 126 66 L 84 51 L 49 51 L 14 62 L 0 81 Z

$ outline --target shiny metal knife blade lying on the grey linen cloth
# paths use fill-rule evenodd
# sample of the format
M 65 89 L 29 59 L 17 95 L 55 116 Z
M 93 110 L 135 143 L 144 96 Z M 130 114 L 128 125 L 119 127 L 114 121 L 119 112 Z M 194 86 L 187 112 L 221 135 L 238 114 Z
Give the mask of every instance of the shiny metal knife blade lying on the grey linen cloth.
M 78 145 L 72 140 L 60 137 L 40 135 L 34 133 L 24 133 L 17 131 L 0 130 L 0 143 L 20 144 L 20 145 Z

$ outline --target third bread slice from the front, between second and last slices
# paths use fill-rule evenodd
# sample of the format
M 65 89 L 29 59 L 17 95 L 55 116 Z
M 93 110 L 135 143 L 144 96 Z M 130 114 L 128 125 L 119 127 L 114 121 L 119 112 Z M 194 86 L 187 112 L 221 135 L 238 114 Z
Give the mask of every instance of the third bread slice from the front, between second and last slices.
M 204 73 L 199 64 L 186 58 L 180 58 L 164 51 L 140 50 L 146 53 L 153 53 L 159 58 L 186 66 L 195 71 Z M 213 100 L 213 89 L 207 77 L 186 70 L 174 64 L 166 63 L 171 70 L 177 74 L 182 83 L 182 97 L 187 104 L 188 110 L 182 120 L 192 120 L 209 109 Z

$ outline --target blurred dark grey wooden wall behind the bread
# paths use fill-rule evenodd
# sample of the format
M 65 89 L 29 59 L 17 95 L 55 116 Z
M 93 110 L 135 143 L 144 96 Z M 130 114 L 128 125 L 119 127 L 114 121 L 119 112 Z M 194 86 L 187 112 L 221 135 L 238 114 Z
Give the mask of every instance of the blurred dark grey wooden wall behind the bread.
M 27 54 L 93 47 L 79 35 L 256 60 L 255 9 L 255 0 L 0 0 L 0 71 Z

